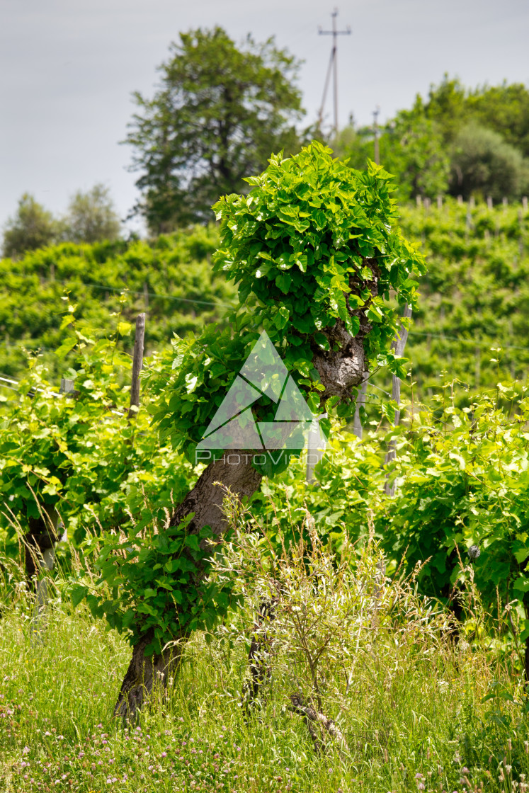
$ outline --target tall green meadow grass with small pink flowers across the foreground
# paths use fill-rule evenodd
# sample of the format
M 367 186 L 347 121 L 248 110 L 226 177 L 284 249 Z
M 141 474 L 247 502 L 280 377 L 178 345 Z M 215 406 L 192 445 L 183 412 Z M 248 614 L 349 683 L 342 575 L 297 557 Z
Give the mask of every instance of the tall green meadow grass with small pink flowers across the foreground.
M 381 632 L 358 651 L 347 694 L 328 706 L 347 749 L 329 740 L 318 754 L 279 672 L 260 710 L 246 714 L 247 646 L 219 635 L 197 633 L 167 691 L 136 722 L 117 722 L 128 644 L 53 594 L 35 631 L 33 598 L 4 586 L 1 791 L 527 789 L 519 676 L 483 646 L 421 633 L 411 618 L 398 636 Z

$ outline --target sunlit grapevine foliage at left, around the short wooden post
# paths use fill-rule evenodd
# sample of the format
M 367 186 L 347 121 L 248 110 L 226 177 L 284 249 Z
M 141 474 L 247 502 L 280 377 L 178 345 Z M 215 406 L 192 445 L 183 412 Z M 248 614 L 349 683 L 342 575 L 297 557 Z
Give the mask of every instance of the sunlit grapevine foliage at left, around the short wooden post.
M 87 533 L 138 519 L 151 496 L 158 503 L 148 514 L 163 515 L 189 482 L 190 465 L 160 444 L 151 428 L 147 392 L 142 409 L 127 419 L 123 380 L 130 377 L 131 360 L 117 340 L 131 326 L 119 319 L 113 337 L 94 342 L 79 331 L 75 307 L 69 308 L 63 326 L 73 332 L 58 353 L 70 353 L 65 374 L 74 393 L 57 394 L 44 367 L 30 358 L 0 416 L 0 538 L 11 556 L 35 522 L 48 523 L 56 513 L 79 545 Z

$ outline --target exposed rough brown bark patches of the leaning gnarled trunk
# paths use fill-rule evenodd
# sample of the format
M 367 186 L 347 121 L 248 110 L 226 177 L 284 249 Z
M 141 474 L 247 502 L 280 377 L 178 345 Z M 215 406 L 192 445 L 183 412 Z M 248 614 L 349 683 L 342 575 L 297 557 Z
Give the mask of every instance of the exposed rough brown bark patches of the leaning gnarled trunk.
M 351 280 L 351 292 L 359 293 L 367 286 L 370 293 L 376 296 L 379 278 L 377 262 L 374 259 L 364 259 L 364 265 L 370 267 L 373 278 L 363 284 Z M 333 328 L 324 331 L 330 343 L 329 351 L 322 351 L 319 345 L 312 344 L 312 360 L 325 388 L 320 403 L 322 407 L 329 397 L 335 395 L 340 399 L 351 399 L 351 389 L 362 381 L 366 368 L 363 339 L 370 331 L 370 324 L 365 316 L 368 307 L 369 302 L 361 309 L 350 308 L 351 316 L 358 316 L 360 321 L 357 335 L 351 335 L 343 321 L 339 320 Z M 211 527 L 213 533 L 217 535 L 226 531 L 227 526 L 221 511 L 222 488 L 217 487 L 215 483 L 230 488 L 242 498 L 251 496 L 259 488 L 262 479 L 262 474 L 249 462 L 250 455 L 230 450 L 229 457 L 233 459 L 236 454 L 240 454 L 241 457 L 238 465 L 228 465 L 228 455 L 226 461 L 221 459 L 208 465 L 197 484 L 174 511 L 171 526 L 178 526 L 186 515 L 194 512 L 189 526 L 192 533 L 197 534 L 205 526 Z M 200 573 L 198 575 L 200 576 Z M 185 638 L 185 635 L 175 637 L 180 640 L 177 646 L 167 649 L 161 655 L 155 654 L 147 658 L 144 656 L 144 649 L 151 641 L 151 637 L 146 636 L 133 648 L 132 659 L 114 708 L 116 715 L 133 716 L 150 694 L 157 675 L 160 684 L 167 685 L 169 673 L 178 668 Z

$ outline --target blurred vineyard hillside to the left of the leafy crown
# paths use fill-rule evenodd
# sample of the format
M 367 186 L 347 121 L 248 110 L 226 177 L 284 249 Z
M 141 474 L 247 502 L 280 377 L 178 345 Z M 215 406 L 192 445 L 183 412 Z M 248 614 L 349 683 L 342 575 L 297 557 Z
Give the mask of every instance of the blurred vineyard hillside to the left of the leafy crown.
M 63 243 L 18 261 L 2 259 L 0 372 L 21 372 L 21 346 L 42 351 L 44 362 L 56 370 L 52 352 L 64 338 L 59 328 L 65 290 L 78 306 L 81 324 L 105 335 L 110 315 L 121 311 L 121 292 L 128 289 L 122 319 L 132 321 L 138 312 L 147 312 L 148 352 L 162 347 L 173 333 L 197 331 L 219 319 L 234 290 L 212 274 L 209 258 L 216 246 L 216 228 L 197 226 L 148 242 Z

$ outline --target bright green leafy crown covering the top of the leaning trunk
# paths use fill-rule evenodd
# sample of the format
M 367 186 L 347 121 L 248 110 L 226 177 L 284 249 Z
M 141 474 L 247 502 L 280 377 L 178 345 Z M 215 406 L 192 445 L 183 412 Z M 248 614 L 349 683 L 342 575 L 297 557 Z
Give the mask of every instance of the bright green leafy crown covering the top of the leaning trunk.
M 389 351 L 400 327 L 390 298 L 416 305 L 424 262 L 398 229 L 390 180 L 374 163 L 355 171 L 312 143 L 272 157 L 247 180 L 248 195 L 220 199 L 214 270 L 235 282 L 240 305 L 226 318 L 230 328 L 178 339 L 158 378 L 156 419 L 177 448 L 194 454 L 261 328 L 314 412 L 324 391 L 316 358 L 339 348 L 339 328 L 363 344 L 366 367 L 399 369 Z M 328 411 L 351 414 L 352 396 L 339 406 L 328 400 Z

